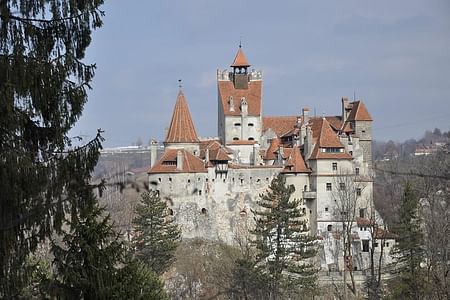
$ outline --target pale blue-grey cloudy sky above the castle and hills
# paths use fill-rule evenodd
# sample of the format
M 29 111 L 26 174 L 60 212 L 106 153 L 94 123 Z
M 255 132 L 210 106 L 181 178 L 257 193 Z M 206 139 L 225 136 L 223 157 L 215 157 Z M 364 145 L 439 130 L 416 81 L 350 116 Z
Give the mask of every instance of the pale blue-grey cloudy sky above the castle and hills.
M 199 136 L 217 136 L 216 70 L 239 41 L 263 72 L 263 114 L 339 115 L 361 99 L 374 139 L 450 130 L 448 0 L 106 1 L 85 62 L 96 75 L 72 135 L 163 141 L 178 79 Z

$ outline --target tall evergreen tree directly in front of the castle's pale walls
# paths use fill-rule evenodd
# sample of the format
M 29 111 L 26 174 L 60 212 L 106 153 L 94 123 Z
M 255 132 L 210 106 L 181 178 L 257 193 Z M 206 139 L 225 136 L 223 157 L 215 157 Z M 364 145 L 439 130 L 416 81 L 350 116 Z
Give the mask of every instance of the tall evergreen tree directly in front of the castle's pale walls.
M 316 251 L 314 238 L 308 236 L 303 225 L 299 201 L 290 199 L 295 191 L 286 186 L 283 175 L 274 178 L 253 211 L 256 227 L 255 246 L 259 252 L 256 271 L 268 280 L 268 298 L 314 292 L 316 272 L 309 260 Z

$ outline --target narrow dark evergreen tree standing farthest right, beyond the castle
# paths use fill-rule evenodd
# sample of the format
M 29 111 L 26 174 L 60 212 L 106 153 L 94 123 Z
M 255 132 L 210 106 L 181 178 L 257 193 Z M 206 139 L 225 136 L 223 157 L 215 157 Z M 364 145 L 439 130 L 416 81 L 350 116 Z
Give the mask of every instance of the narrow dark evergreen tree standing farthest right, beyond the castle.
M 420 268 L 424 261 L 423 234 L 418 215 L 419 200 L 409 183 L 406 183 L 401 205 L 400 217 L 395 226 L 398 235 L 393 254 L 399 277 L 394 280 L 394 298 L 423 299 L 425 276 Z

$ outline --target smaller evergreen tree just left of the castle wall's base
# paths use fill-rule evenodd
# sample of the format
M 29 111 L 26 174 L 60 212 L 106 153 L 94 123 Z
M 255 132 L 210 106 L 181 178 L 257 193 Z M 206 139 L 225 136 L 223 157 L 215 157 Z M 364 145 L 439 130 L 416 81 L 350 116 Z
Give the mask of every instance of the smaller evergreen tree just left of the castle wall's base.
M 136 257 L 157 274 L 162 274 L 175 260 L 181 231 L 169 214 L 166 203 L 155 191 L 141 195 L 136 215 L 133 220 Z

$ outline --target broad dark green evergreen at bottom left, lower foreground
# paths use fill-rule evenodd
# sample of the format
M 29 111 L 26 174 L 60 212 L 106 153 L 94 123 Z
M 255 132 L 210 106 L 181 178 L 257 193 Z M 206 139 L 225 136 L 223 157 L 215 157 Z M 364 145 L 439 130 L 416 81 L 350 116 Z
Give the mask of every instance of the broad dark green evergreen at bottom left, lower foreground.
M 53 242 L 56 279 L 49 285 L 58 299 L 165 299 L 157 275 L 129 258 L 109 215 L 95 206 Z

